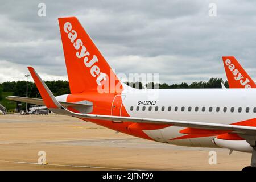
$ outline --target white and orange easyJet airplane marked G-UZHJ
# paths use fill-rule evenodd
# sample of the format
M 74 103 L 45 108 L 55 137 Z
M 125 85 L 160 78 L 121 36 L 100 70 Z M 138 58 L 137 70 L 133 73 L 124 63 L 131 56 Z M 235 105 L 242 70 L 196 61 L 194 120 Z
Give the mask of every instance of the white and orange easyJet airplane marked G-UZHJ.
M 247 168 L 255 169 L 256 90 L 130 88 L 117 78 L 77 18 L 59 18 L 59 27 L 71 94 L 53 96 L 28 67 L 43 100 L 7 99 L 45 105 L 57 114 L 157 142 L 251 152 Z M 154 94 L 158 97 L 150 97 Z

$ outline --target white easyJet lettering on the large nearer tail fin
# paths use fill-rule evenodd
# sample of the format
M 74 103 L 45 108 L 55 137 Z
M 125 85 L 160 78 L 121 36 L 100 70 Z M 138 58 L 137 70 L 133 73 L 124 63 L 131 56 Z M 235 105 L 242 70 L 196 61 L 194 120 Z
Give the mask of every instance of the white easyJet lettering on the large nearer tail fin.
M 87 50 L 82 40 L 77 38 L 77 32 L 72 29 L 71 23 L 66 22 L 63 29 L 64 32 L 68 34 L 68 38 L 70 42 L 73 43 L 73 47 L 77 50 L 76 57 L 84 60 L 85 66 L 90 68 L 90 75 L 97 77 L 96 83 L 101 85 L 101 81 L 106 80 L 107 75 L 100 71 L 98 65 L 95 65 L 98 62 L 97 56 L 93 55 L 92 59 L 89 60 L 90 52 Z

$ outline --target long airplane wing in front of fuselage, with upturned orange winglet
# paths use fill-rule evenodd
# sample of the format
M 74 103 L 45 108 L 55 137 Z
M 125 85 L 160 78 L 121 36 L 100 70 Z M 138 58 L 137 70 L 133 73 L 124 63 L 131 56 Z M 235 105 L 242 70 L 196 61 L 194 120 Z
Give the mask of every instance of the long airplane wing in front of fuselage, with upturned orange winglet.
M 49 90 L 47 85 L 43 82 L 43 80 L 39 77 L 39 75 L 32 67 L 28 67 L 28 69 L 32 77 L 34 78 L 35 84 L 38 87 L 43 100 L 46 102 L 46 106 L 49 110 L 57 114 L 69 115 L 77 118 L 100 119 L 102 121 L 126 121 L 136 123 L 170 124 L 173 126 L 192 127 L 196 129 L 231 130 L 233 133 L 237 134 L 256 135 L 256 127 L 253 126 L 226 125 L 220 123 L 204 123 L 193 121 L 177 121 L 171 119 L 120 117 L 112 115 L 74 113 L 61 106 L 60 102 L 56 100 L 56 98 L 53 96 L 52 92 Z

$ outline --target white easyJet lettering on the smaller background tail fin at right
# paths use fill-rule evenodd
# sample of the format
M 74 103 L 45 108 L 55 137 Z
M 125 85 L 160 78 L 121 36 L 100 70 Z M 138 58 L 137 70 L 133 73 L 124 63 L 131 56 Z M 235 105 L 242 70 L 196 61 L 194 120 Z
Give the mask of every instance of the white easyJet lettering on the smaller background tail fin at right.
M 235 65 L 232 64 L 230 59 L 226 59 L 225 64 L 229 68 L 230 72 L 233 73 L 234 80 L 239 81 L 240 84 L 246 89 L 251 88 L 251 85 L 249 85 L 250 80 L 248 78 L 245 79 L 245 77 L 242 76 L 238 69 L 236 69 Z

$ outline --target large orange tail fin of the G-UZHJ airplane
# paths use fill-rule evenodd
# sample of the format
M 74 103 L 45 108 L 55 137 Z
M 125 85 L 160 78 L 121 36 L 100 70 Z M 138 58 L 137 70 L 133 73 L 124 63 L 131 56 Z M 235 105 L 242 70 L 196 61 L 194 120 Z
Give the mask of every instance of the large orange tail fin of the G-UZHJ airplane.
M 75 17 L 59 18 L 60 34 L 71 93 L 115 93 L 121 82 Z M 110 80 L 111 79 L 111 80 Z M 102 88 L 103 86 L 103 88 Z

